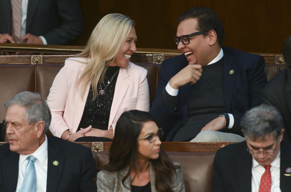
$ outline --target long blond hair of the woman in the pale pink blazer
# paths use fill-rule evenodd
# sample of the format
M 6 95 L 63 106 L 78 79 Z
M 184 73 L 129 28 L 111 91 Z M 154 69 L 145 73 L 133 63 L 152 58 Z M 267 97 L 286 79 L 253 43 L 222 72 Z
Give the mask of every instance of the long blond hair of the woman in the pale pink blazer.
M 105 15 L 95 26 L 85 49 L 76 57 L 89 58 L 78 81 L 82 97 L 91 83 L 93 99 L 97 98 L 99 80 L 104 80 L 108 65 L 115 59 L 135 22 L 122 14 Z

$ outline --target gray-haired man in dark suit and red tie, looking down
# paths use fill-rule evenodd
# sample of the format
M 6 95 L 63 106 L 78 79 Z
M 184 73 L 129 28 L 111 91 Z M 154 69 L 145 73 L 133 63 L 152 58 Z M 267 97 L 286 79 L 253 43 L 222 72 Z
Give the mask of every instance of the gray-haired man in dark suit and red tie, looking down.
M 246 141 L 218 150 L 213 162 L 212 192 L 291 191 L 291 143 L 273 106 L 260 105 L 243 116 Z

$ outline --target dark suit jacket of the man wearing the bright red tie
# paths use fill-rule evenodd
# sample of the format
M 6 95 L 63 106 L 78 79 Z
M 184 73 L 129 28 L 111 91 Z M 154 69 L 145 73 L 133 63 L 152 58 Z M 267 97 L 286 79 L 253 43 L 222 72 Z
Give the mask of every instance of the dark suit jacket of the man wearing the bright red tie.
M 285 176 L 291 167 L 291 143 L 281 142 L 280 189 L 291 191 L 291 177 Z M 246 141 L 231 144 L 216 152 L 213 162 L 212 192 L 251 192 L 252 156 Z

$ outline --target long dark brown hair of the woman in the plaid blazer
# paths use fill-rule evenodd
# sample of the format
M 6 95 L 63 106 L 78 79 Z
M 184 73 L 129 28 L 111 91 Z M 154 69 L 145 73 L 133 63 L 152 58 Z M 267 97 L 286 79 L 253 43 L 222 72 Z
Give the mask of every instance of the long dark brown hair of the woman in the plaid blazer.
M 149 113 L 139 110 L 124 112 L 117 121 L 115 136 L 109 150 L 109 163 L 101 170 L 119 172 L 128 167 L 128 173 L 122 178 L 123 185 L 127 177 L 130 176 L 131 170 L 134 170 L 135 173 L 139 172 L 137 138 L 142 130 L 143 123 L 148 121 L 156 123 Z M 156 173 L 156 190 L 171 192 L 170 184 L 176 169 L 180 167 L 172 163 L 162 146 L 160 147 L 159 158 L 150 159 L 150 162 Z

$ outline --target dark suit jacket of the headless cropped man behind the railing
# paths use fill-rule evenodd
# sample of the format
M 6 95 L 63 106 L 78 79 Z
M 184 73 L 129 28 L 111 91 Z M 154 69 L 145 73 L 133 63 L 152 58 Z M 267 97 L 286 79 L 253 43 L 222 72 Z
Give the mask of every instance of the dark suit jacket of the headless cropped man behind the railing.
M 11 0 L 0 0 L 0 33 L 11 35 Z M 29 0 L 26 33 L 42 35 L 48 44 L 64 45 L 83 31 L 79 0 Z

